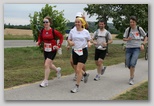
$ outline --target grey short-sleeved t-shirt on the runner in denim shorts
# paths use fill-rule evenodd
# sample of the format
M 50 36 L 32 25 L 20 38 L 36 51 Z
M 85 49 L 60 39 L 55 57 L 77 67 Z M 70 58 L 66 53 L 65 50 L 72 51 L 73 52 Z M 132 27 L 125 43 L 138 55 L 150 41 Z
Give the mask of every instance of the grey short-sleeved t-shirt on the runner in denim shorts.
M 135 29 L 131 28 L 129 37 L 131 37 L 132 40 L 127 41 L 126 48 L 139 48 L 141 46 L 141 39 L 142 39 L 141 37 L 142 36 L 145 37 L 146 33 L 141 27 L 139 27 L 139 30 L 141 35 L 137 29 L 137 26 Z M 125 30 L 125 33 L 123 35 L 124 38 L 127 38 L 128 31 L 129 31 L 129 27 Z

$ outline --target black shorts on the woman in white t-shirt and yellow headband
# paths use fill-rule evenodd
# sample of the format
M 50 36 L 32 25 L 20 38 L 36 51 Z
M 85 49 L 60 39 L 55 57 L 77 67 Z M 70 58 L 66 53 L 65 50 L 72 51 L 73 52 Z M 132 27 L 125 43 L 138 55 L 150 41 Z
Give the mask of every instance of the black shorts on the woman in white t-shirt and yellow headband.
M 86 61 L 87 61 L 87 58 L 88 58 L 87 48 L 83 49 L 83 55 L 82 56 L 77 55 L 73 50 L 72 57 L 73 57 L 73 64 L 74 65 L 77 65 L 79 62 L 85 64 Z

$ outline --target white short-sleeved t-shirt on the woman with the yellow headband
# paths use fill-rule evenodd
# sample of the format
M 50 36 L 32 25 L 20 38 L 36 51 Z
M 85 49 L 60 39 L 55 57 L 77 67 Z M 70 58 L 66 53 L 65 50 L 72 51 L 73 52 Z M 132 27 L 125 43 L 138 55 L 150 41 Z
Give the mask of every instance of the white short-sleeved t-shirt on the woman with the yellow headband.
M 74 27 L 71 29 L 68 39 L 72 40 L 75 44 L 72 48 L 79 49 L 87 46 L 87 41 L 91 40 L 91 36 L 88 30 L 77 31 L 76 27 Z

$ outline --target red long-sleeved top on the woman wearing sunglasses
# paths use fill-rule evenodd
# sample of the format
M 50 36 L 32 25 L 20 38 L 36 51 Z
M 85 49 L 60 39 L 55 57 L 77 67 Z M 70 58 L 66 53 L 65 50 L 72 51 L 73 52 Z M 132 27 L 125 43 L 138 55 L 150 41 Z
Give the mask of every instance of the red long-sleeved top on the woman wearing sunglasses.
M 55 49 L 53 48 L 55 45 L 57 45 L 60 48 L 63 43 L 63 35 L 55 29 L 54 29 L 54 34 L 55 34 L 54 36 L 59 38 L 58 44 L 57 44 L 56 40 L 54 39 L 52 29 L 50 29 L 50 30 L 43 29 L 42 35 L 38 36 L 38 44 L 40 45 L 41 42 L 50 44 L 52 51 L 55 51 Z

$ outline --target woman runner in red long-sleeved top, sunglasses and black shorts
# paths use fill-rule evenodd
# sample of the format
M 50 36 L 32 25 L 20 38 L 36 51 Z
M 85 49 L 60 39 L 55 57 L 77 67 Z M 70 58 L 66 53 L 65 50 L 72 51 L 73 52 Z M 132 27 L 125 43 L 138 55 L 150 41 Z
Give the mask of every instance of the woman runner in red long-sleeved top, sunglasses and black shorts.
M 37 45 L 40 45 L 42 42 L 44 44 L 43 50 L 44 50 L 44 67 L 45 67 L 45 73 L 44 73 L 44 80 L 40 84 L 40 87 L 46 87 L 48 86 L 48 78 L 50 74 L 50 69 L 53 69 L 57 72 L 57 77 L 61 77 L 61 68 L 56 67 L 53 64 L 53 60 L 56 56 L 57 50 L 61 47 L 63 43 L 63 35 L 51 28 L 52 22 L 51 18 L 49 16 L 46 16 L 43 19 L 43 25 L 44 28 L 41 30 L 41 33 L 38 36 L 38 42 Z M 57 44 L 56 37 L 59 38 L 59 43 Z

